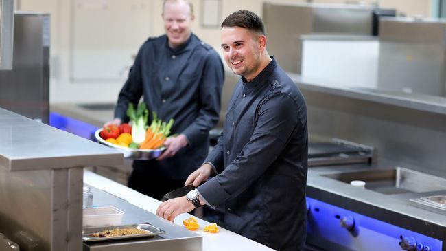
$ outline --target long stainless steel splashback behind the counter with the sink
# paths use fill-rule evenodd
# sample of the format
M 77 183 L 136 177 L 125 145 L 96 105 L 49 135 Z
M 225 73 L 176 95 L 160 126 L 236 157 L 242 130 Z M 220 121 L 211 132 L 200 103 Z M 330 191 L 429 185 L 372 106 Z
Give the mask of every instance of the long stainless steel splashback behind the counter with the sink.
M 303 90 L 309 135 L 373 146 L 379 158 L 445 171 L 446 115 Z

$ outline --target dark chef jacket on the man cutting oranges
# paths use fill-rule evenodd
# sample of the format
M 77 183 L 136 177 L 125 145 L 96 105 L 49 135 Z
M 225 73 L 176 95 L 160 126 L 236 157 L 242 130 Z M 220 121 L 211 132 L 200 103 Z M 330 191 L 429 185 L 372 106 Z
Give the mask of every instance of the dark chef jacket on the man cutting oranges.
M 226 203 L 225 227 L 275 250 L 305 242 L 307 110 L 274 58 L 237 83 L 224 131 L 207 157 L 222 173 L 198 187 L 211 206 Z

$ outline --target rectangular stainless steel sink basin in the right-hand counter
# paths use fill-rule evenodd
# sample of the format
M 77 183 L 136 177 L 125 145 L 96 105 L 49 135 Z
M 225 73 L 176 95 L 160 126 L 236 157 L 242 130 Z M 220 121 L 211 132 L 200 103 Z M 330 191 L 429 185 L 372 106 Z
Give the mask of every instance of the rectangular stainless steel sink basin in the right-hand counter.
M 353 180 L 366 182 L 365 188 L 385 195 L 425 193 L 446 190 L 446 179 L 408 168 L 327 173 L 321 176 L 350 184 Z

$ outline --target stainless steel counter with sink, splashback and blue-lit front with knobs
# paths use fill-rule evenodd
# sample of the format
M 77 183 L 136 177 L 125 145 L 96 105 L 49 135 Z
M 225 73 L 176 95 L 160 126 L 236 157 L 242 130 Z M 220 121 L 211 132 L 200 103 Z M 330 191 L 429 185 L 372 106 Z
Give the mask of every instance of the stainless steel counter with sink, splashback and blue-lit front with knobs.
M 309 138 L 342 138 L 379 150 L 371 165 L 308 169 L 307 243 L 339 251 L 446 250 L 446 98 L 290 75 L 311 114 Z

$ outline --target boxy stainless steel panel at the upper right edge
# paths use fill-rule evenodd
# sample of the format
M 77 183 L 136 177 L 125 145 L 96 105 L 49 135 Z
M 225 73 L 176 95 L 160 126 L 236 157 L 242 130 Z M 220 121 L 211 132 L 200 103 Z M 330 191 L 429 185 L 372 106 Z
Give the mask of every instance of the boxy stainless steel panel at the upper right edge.
M 445 96 L 446 20 L 384 18 L 379 89 Z

